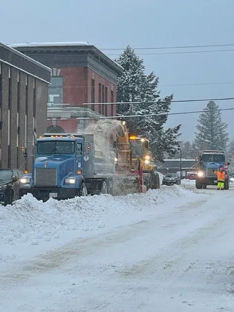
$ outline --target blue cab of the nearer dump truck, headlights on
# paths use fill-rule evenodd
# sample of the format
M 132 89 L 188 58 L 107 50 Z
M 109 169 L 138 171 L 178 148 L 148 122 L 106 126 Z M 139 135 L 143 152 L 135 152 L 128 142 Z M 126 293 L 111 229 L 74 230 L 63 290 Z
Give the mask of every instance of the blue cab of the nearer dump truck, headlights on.
M 32 193 L 45 201 L 50 197 L 67 199 L 87 195 L 84 161 L 89 148 L 82 136 L 39 137 L 32 173 L 20 180 L 20 197 Z

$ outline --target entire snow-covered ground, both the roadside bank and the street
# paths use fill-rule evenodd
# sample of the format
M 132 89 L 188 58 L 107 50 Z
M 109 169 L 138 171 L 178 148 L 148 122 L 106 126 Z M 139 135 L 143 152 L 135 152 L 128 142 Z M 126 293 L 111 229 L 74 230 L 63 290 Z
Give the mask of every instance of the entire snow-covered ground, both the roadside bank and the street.
M 233 200 L 183 186 L 27 196 L 1 210 L 0 311 L 234 311 Z

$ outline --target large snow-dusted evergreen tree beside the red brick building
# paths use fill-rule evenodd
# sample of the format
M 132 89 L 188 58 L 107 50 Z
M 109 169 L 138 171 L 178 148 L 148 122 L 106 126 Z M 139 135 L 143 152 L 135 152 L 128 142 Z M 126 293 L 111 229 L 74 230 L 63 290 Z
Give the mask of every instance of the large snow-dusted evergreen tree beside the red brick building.
M 159 99 L 158 77 L 154 72 L 145 74 L 143 60 L 129 45 L 116 61 L 124 68 L 118 78 L 117 101 L 140 102 L 117 105 L 118 116 L 169 113 L 173 95 Z M 167 118 L 168 115 L 126 118 L 130 133 L 149 139 L 152 154 L 158 161 L 162 161 L 165 152 L 170 156 L 175 155 L 180 143 L 180 125 L 164 129 Z

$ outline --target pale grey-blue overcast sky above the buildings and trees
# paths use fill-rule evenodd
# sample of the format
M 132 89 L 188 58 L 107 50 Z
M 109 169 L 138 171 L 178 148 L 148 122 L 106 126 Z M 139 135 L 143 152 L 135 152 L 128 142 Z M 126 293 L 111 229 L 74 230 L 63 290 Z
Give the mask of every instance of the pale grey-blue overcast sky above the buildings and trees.
M 0 5 L 0 42 L 88 41 L 104 49 L 172 47 L 234 43 L 234 0 L 8 0 Z M 234 46 L 139 50 L 137 53 L 233 51 L 141 55 L 146 71 L 159 76 L 161 95 L 177 100 L 234 97 L 234 84 L 163 86 L 234 82 Z M 110 56 L 115 58 L 115 56 Z M 220 108 L 234 101 L 218 101 Z M 172 112 L 200 110 L 205 102 L 173 103 Z M 234 112 L 224 112 L 234 137 Z M 169 117 L 168 125 L 182 123 L 182 138 L 193 139 L 198 115 Z M 225 138 L 224 138 L 225 139 Z

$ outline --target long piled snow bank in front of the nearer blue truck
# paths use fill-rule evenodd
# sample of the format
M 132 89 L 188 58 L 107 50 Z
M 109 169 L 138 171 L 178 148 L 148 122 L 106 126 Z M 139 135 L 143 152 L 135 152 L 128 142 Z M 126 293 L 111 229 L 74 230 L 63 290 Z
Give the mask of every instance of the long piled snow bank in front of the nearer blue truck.
M 170 190 L 150 190 L 146 194 L 127 196 L 95 195 L 62 201 L 51 198 L 45 203 L 31 194 L 24 195 L 12 206 L 0 206 L 0 246 L 38 245 L 59 239 L 68 231 L 78 231 L 78 235 L 98 232 L 105 227 L 105 222 L 110 222 L 114 228 L 117 215 L 124 221 L 126 215 L 130 215 L 132 221 L 137 211 L 155 211 L 156 205 L 188 194 L 193 195 L 191 191 L 175 186 Z

